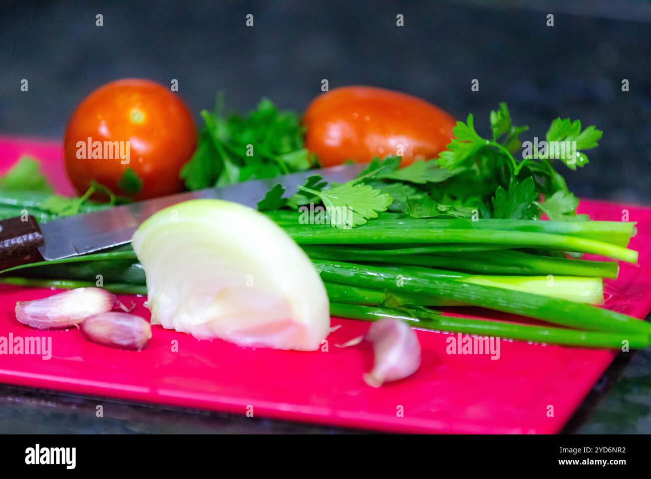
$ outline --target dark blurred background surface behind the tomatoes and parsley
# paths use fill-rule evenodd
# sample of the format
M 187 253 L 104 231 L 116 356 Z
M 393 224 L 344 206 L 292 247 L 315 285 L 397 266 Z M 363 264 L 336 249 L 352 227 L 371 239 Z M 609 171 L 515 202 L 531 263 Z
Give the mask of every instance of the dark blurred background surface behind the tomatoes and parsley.
M 103 27 L 95 25 L 98 13 Z M 77 103 L 122 77 L 178 79 L 198 124 L 219 89 L 231 109 L 268 96 L 303 110 L 324 78 L 331 89 L 405 91 L 458 118 L 473 112 L 484 131 L 488 111 L 505 100 L 532 138 L 558 115 L 604 131 L 590 165 L 568 172 L 577 195 L 651 203 L 645 0 L 1 4 L 0 134 L 61 138 Z M 23 78 L 29 93 L 20 91 Z

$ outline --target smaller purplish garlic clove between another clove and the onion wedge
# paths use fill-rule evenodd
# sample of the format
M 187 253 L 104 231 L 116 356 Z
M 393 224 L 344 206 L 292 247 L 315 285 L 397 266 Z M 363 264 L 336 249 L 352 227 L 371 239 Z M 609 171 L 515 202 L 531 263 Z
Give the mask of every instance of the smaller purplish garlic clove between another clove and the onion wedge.
M 130 313 L 100 313 L 86 318 L 81 334 L 94 343 L 141 351 L 152 337 L 152 327 L 144 318 Z

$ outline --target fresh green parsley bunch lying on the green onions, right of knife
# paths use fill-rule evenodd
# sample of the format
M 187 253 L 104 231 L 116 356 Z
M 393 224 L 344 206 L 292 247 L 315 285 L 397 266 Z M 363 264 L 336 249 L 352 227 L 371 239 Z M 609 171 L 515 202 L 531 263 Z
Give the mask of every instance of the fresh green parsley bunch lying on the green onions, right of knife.
M 577 215 L 578 199 L 554 169 L 550 149 L 524 155 L 521 136 L 528 126 L 512 122 L 505 103 L 490 113 L 491 136 L 475 130 L 475 119 L 458 122 L 454 139 L 435 160 L 417 161 L 400 168 L 402 158 L 374 158 L 353 181 L 327 188 L 321 177 L 311 177 L 299 192 L 284 198 L 275 186 L 258 203 L 260 210 L 298 209 L 309 203 L 351 207 L 353 225 L 363 224 L 380 211 L 413 218 L 503 218 L 534 220 L 546 214 L 562 221 L 585 220 Z M 598 145 L 602 132 L 581 128 L 578 120 L 555 119 L 546 142 L 570 141 L 572 156 L 561 158 L 570 169 L 587 164 L 583 151 Z M 391 201 L 388 199 L 391 198 Z M 544 199 L 544 201 L 543 201 Z

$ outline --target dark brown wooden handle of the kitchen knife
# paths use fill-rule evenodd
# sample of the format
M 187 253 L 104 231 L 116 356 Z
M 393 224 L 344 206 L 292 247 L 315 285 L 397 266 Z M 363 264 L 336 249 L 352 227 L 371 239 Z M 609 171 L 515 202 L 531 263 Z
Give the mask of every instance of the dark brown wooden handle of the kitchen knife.
M 33 216 L 0 221 L 0 270 L 42 261 L 43 234 Z

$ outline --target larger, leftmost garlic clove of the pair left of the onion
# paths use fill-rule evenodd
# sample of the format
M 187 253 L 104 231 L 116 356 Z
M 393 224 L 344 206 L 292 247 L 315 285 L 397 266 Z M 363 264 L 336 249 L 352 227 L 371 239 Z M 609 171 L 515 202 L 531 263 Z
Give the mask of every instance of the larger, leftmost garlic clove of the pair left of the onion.
M 112 293 L 97 287 L 64 291 L 47 298 L 16 303 L 16 319 L 38 329 L 70 328 L 89 316 L 111 311 L 118 304 Z

